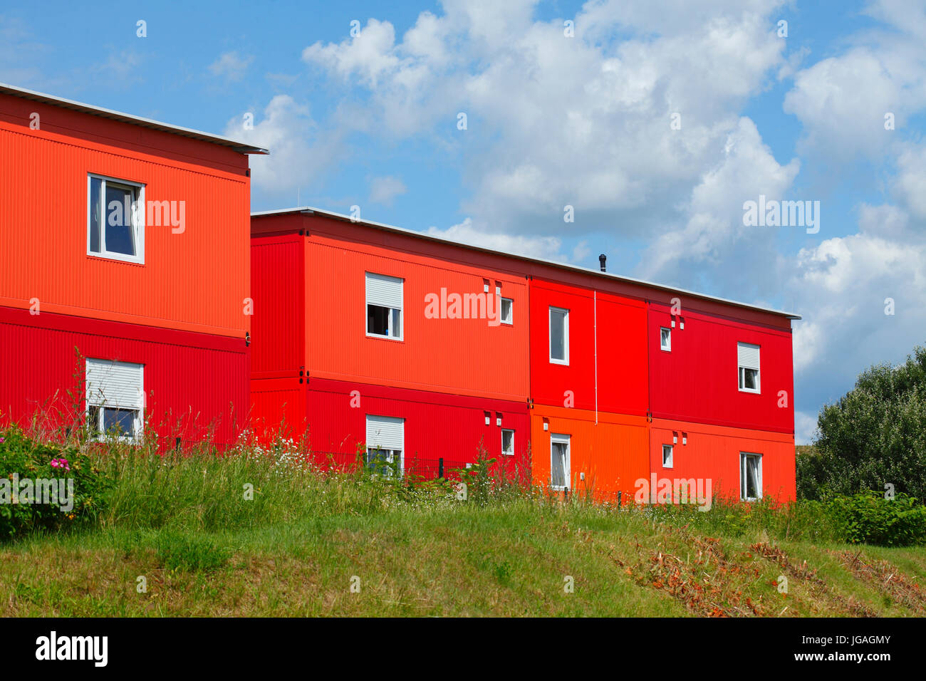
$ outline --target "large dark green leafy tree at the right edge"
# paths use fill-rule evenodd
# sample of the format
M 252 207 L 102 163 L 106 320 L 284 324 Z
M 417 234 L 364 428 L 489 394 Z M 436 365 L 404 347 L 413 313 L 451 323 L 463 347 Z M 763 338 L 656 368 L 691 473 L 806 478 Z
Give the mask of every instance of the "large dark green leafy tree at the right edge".
M 907 362 L 862 372 L 856 386 L 818 418 L 814 453 L 797 459 L 802 498 L 866 489 L 926 499 L 926 347 Z

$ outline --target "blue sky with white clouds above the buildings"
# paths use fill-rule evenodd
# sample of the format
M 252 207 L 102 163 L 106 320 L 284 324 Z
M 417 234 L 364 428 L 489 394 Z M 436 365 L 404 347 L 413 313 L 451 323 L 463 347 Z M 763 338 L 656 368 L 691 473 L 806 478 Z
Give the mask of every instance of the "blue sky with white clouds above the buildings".
M 803 442 L 923 343 L 924 45 L 908 0 L 22 4 L 0 81 L 268 146 L 255 210 L 357 205 L 793 310 Z M 820 232 L 745 225 L 758 195 L 819 201 Z

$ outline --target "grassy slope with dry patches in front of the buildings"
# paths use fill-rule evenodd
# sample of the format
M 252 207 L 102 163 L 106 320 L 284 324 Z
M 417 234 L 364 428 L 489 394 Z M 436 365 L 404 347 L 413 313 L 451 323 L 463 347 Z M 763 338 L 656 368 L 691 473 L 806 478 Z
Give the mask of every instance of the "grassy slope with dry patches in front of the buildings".
M 513 487 L 458 501 L 302 460 L 100 452 L 105 511 L 0 545 L 0 614 L 926 615 L 926 551 L 833 542 L 812 505 L 617 510 Z

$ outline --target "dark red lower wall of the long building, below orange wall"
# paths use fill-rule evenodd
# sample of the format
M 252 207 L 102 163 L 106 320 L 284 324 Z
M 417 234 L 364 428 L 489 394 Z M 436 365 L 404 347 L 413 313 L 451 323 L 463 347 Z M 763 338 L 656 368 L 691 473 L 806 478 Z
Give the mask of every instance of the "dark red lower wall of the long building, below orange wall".
M 358 407 L 351 407 L 357 391 Z M 485 424 L 484 412 L 490 412 Z M 406 471 L 426 477 L 476 460 L 480 442 L 490 457 L 514 474 L 526 473 L 530 419 L 526 404 L 482 397 L 459 397 L 419 390 L 310 379 L 307 389 L 308 439 L 319 459 L 336 464 L 354 460 L 357 443 L 366 440 L 366 416 L 405 419 Z M 502 425 L 496 425 L 501 414 Z M 515 431 L 515 454 L 503 456 L 502 429 Z M 414 464 L 414 465 L 413 465 Z

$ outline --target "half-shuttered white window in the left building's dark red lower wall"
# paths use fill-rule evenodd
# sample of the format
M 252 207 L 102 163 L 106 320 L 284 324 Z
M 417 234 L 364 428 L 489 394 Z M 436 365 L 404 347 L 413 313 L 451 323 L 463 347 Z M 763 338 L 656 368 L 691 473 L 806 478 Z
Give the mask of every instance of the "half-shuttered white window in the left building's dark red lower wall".
M 94 439 L 137 442 L 144 417 L 144 365 L 87 359 L 87 428 Z

